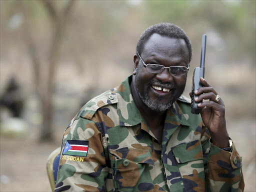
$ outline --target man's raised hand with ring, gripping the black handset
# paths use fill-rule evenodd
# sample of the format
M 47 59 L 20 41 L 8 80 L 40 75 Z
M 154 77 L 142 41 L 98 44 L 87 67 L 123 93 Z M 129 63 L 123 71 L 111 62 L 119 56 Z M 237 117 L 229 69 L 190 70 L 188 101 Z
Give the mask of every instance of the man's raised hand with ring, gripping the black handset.
M 210 131 L 212 143 L 220 148 L 228 147 L 224 102 L 221 98 L 219 101 L 215 100 L 217 92 L 205 79 L 200 77 L 200 82 L 203 87 L 194 91 L 194 95 L 198 96 L 195 98 L 195 101 L 199 102 L 203 99 L 209 99 L 209 101 L 197 104 L 201 108 L 202 121 Z

